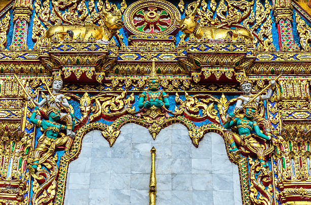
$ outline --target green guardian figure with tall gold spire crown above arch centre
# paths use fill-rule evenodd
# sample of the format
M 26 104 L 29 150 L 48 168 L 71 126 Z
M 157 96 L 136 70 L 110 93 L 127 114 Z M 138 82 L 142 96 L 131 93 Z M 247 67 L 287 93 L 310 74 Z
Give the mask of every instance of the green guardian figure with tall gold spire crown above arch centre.
M 155 72 L 154 59 L 152 61 L 152 71 L 148 77 L 149 91 L 139 95 L 138 107 L 144 109 L 141 115 L 148 115 L 153 119 L 159 115 L 165 115 L 166 109 L 170 107 L 168 95 L 160 90 L 159 77 Z

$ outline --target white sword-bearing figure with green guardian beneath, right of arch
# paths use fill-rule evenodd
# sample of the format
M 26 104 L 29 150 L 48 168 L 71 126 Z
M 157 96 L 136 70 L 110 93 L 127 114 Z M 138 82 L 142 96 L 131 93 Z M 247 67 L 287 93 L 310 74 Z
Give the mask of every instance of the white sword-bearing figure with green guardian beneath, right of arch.
M 267 149 L 264 142 L 271 139 L 271 124 L 268 119 L 259 116 L 257 109 L 259 101 L 271 98 L 272 89 L 270 87 L 275 86 L 275 81 L 280 76 L 271 80 L 270 84 L 256 95 L 251 93 L 252 81 L 245 77 L 241 83 L 244 95 L 238 98 L 234 112 L 229 113 L 228 119 L 224 123 L 225 129 L 234 128 L 233 132 L 225 132 L 226 141 L 231 147 L 229 151 L 237 151 L 239 150 L 237 146 L 242 146 L 248 153 L 255 153 L 263 167 L 266 167 L 265 150 Z M 261 96 L 267 89 L 269 89 L 267 94 Z M 243 110 L 244 113 L 238 114 L 240 110 Z M 260 124 L 263 125 L 265 133 L 260 131 Z

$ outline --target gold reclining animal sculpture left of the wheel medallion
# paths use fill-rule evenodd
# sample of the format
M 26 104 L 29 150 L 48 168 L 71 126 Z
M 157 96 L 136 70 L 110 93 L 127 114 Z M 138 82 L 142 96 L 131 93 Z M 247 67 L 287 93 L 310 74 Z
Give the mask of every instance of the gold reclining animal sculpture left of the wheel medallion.
M 113 9 L 113 11 L 111 11 Z M 79 36 L 83 40 L 88 40 L 91 36 L 95 40 L 110 40 L 116 31 L 123 27 L 122 14 L 119 9 L 112 7 L 110 11 L 105 8 L 98 13 L 99 17 L 104 21 L 104 25 L 95 24 L 86 25 L 54 25 L 47 29 L 45 37 L 51 42 L 54 35 L 58 35 L 60 41 L 68 34 L 73 39 Z

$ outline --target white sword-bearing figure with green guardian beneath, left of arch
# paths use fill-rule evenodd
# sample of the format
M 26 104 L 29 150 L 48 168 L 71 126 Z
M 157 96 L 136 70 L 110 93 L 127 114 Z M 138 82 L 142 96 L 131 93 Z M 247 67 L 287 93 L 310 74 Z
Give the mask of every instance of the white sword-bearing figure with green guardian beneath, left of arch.
M 64 104 L 66 105 L 67 103 L 69 107 L 69 103 L 67 100 L 65 102 L 58 100 L 64 96 L 63 94 L 58 93 L 63 84 L 63 81 L 54 79 L 53 93 L 49 91 L 50 95 L 47 98 L 44 98 L 40 103 L 38 103 L 29 96 L 28 92 L 25 90 L 21 81 L 15 74 L 14 74 L 14 77 L 16 78 L 16 80 L 18 81 L 18 84 L 21 86 L 22 90 L 27 96 L 27 99 L 34 105 L 34 112 L 30 116 L 29 121 L 32 122 L 37 127 L 40 127 L 43 129 L 43 132 L 42 132 L 43 134 L 39 137 L 37 146 L 34 150 L 34 156 L 28 157 L 28 163 L 32 165 L 31 168 L 37 169 L 38 165 L 41 165 L 42 163 L 44 163 L 49 157 L 51 157 L 54 154 L 55 149 L 57 147 L 65 146 L 65 151 L 70 150 L 71 144 L 73 142 L 73 138 L 75 136 L 75 133 L 72 132 L 75 126 L 75 123 L 74 123 L 75 121 L 72 120 L 71 121 L 72 124 L 69 125 L 67 120 L 68 120 L 68 116 L 73 117 L 71 115 L 72 113 L 69 113 L 68 115 L 66 113 L 60 112 L 60 107 L 63 106 Z M 45 103 L 48 103 L 49 107 L 44 109 L 44 113 L 40 112 L 39 110 L 42 108 L 39 108 L 38 105 L 41 106 Z M 57 103 L 59 103 L 60 107 L 58 107 L 59 105 L 57 105 Z M 60 103 L 63 105 L 61 105 Z M 37 113 L 39 113 L 39 116 L 46 115 L 45 117 L 47 118 L 41 119 L 41 116 L 40 116 L 40 119 L 38 119 Z M 65 121 L 67 122 L 66 125 L 59 123 L 59 119 L 61 118 L 62 114 L 63 114 L 63 121 L 65 119 Z M 60 122 L 61 121 L 62 120 L 60 120 Z M 69 126 L 70 126 L 70 129 L 68 129 Z M 62 130 L 66 130 L 67 135 L 62 133 L 61 132 Z M 31 168 L 29 167 L 29 169 Z

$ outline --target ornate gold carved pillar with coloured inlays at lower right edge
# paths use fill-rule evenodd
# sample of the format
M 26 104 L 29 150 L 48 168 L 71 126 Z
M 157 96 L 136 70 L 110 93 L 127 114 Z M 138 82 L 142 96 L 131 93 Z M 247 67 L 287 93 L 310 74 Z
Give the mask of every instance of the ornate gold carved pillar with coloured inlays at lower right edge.
M 310 176 L 310 130 L 309 122 L 283 124 L 273 159 L 275 185 L 279 189 L 277 198 L 282 203 L 304 200 L 310 195 L 305 189 L 311 184 Z M 289 203 L 291 204 L 291 203 Z

